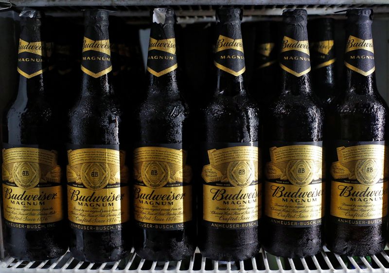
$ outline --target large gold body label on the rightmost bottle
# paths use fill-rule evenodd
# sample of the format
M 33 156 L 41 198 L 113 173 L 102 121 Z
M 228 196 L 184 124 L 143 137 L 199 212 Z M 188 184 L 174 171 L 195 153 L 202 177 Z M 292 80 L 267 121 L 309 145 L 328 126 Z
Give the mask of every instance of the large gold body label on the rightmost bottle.
M 388 215 L 385 142 L 336 142 L 331 164 L 331 220 L 347 225 L 378 225 Z

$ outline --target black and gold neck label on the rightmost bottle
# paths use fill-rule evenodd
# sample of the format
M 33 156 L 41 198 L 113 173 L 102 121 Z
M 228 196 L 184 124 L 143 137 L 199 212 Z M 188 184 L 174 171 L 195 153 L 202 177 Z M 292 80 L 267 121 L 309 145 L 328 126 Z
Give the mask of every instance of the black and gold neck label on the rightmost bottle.
M 366 32 L 364 35 L 371 37 L 370 32 Z M 361 39 L 350 35 L 344 59 L 347 68 L 363 76 L 369 76 L 375 71 L 373 39 Z

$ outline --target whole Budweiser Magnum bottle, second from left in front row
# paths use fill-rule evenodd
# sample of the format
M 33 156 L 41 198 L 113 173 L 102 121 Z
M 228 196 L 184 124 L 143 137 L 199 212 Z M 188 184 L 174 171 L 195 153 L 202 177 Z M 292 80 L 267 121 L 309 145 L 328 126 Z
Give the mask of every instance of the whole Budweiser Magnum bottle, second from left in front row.
M 70 251 L 109 262 L 131 251 L 126 133 L 111 80 L 108 11 L 86 10 L 81 95 L 69 116 Z

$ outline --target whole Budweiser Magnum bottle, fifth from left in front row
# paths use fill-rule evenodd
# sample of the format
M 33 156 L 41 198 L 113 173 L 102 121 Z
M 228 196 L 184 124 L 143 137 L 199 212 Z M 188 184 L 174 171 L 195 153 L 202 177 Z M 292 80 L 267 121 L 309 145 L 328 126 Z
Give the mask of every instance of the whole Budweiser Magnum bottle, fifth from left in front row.
M 283 12 L 282 88 L 264 122 L 265 184 L 261 241 L 281 257 L 317 254 L 323 246 L 323 110 L 313 95 L 307 12 Z

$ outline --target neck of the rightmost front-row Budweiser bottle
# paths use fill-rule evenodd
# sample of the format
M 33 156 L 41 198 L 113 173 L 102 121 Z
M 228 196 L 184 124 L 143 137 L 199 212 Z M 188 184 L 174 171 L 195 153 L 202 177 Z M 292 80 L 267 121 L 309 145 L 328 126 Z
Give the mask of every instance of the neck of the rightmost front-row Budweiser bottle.
M 377 92 L 371 21 L 348 25 L 345 65 L 347 92 L 372 95 Z

